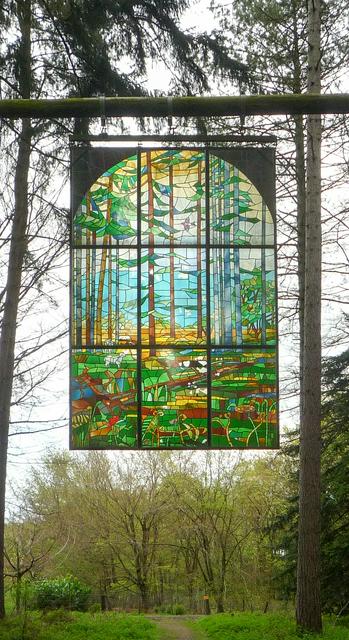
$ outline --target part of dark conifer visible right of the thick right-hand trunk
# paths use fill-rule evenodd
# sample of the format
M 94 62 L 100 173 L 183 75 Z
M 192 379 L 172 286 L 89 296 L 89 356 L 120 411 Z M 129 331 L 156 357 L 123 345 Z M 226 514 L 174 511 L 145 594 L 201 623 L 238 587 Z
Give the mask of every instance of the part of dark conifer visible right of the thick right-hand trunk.
M 338 615 L 349 610 L 348 367 L 348 349 L 324 362 L 321 593 L 323 608 Z

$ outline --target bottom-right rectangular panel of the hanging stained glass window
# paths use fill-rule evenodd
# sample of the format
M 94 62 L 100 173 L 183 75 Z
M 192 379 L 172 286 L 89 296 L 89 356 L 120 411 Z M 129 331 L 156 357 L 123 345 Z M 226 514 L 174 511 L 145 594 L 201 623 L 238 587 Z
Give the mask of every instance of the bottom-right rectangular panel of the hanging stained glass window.
M 276 448 L 274 351 L 212 352 L 212 447 Z

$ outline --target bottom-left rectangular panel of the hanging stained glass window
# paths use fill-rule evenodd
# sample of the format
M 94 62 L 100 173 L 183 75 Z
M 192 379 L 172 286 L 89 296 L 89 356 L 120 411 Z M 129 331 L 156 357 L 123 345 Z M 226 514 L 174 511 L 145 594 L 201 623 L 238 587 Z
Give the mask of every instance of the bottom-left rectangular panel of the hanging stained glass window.
M 76 449 L 132 448 L 137 435 L 137 354 L 74 350 L 71 435 Z

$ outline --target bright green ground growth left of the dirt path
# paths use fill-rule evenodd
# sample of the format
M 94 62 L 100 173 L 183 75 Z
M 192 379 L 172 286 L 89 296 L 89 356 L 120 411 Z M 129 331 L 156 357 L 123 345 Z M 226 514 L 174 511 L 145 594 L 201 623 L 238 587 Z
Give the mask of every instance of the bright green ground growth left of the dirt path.
M 156 626 L 143 616 L 78 613 L 12 616 L 0 622 L 0 640 L 158 640 Z

